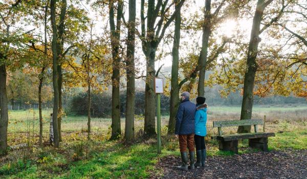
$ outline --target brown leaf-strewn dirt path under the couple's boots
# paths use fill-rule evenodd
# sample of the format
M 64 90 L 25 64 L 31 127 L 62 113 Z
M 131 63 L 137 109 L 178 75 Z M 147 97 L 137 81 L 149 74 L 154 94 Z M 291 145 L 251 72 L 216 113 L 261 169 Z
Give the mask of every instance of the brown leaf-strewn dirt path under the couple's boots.
M 307 150 L 208 157 L 204 168 L 179 171 L 180 158 L 161 159 L 151 178 L 307 178 Z

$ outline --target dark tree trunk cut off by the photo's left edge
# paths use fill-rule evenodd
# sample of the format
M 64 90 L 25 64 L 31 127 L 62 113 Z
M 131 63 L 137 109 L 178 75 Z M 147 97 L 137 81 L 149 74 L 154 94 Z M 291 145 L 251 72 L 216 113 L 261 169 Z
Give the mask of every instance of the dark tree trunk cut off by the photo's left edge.
M 0 59 L 4 58 L 0 54 Z M 8 147 L 8 98 L 6 91 L 6 65 L 0 65 L 0 156 L 7 154 Z

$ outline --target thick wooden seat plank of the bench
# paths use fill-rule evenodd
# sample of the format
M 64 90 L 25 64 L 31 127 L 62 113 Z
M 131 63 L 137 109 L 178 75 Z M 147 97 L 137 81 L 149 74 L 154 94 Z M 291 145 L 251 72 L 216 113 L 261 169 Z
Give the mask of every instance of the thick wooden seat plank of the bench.
M 256 138 L 268 138 L 274 137 L 275 133 L 269 132 L 253 132 L 253 133 L 236 133 L 233 135 L 223 135 L 223 136 L 216 136 L 216 140 L 221 141 L 234 141 L 238 139 L 256 139 Z

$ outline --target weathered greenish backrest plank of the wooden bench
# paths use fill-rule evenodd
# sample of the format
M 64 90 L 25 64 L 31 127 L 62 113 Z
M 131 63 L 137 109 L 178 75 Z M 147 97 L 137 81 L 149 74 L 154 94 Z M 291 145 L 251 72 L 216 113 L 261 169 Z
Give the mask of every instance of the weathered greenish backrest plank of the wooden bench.
M 244 125 L 263 125 L 262 119 L 247 119 L 247 120 L 228 120 L 228 121 L 213 121 L 213 127 L 231 127 Z

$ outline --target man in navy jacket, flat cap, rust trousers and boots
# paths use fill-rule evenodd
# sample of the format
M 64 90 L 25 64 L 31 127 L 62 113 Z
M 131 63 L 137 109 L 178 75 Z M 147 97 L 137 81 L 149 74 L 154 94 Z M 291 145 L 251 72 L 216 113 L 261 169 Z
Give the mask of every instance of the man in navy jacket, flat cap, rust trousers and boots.
M 196 111 L 196 105 L 191 103 L 189 92 L 183 92 L 181 95 L 181 103 L 178 107 L 176 116 L 176 129 L 175 135 L 179 138 L 180 153 L 182 159 L 182 165 L 178 168 L 180 170 L 188 170 L 188 153 L 190 154 L 190 169 L 194 169 L 194 116 Z

